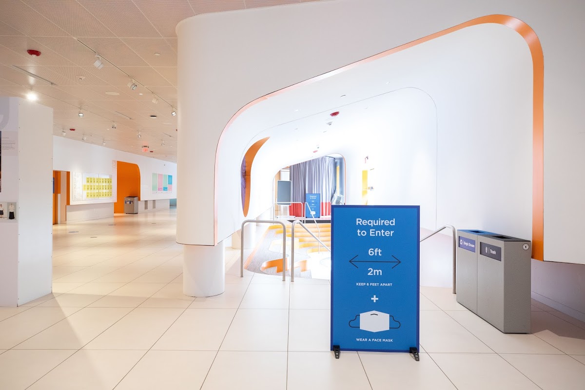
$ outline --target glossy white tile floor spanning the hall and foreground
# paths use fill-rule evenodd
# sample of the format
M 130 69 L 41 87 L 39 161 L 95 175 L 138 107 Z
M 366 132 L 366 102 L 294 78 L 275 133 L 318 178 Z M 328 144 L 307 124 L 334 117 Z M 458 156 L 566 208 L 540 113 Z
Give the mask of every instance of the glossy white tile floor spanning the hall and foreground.
M 542 303 L 503 334 L 422 287 L 420 362 L 335 360 L 328 281 L 239 278 L 226 249 L 226 292 L 194 299 L 174 230 L 174 210 L 55 226 L 53 294 L 0 308 L 0 389 L 585 388 L 585 323 Z

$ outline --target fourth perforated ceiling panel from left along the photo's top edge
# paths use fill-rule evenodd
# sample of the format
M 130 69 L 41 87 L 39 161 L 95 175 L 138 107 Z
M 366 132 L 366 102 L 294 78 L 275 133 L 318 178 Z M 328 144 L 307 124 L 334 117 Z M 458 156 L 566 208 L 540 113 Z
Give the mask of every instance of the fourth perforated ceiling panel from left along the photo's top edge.
M 133 2 L 163 37 L 176 37 L 177 23 L 195 15 L 187 0 L 175 0 L 172 4 L 160 0 L 133 0 Z

